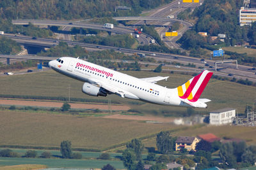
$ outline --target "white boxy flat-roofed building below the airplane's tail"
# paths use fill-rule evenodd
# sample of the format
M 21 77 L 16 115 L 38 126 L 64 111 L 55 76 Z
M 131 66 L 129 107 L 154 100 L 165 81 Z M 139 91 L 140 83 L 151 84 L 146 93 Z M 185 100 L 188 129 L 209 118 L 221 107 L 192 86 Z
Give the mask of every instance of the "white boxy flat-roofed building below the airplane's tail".
M 232 123 L 232 117 L 236 117 L 236 110 L 233 108 L 224 108 L 210 111 L 210 124 L 223 125 Z

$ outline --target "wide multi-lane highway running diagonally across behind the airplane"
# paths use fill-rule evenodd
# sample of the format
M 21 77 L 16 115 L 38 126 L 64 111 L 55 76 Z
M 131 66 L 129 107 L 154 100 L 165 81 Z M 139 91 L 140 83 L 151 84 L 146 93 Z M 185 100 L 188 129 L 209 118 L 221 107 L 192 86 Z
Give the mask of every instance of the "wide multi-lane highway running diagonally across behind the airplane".
M 11 38 L 18 43 L 21 43 L 23 45 L 36 45 L 36 46 L 56 46 L 58 43 L 56 43 L 56 39 L 47 39 L 47 38 L 38 38 L 38 39 L 32 39 L 31 37 L 28 36 L 15 36 L 12 34 L 4 34 L 1 36 L 6 36 L 8 38 Z M 238 69 L 236 69 L 235 64 L 220 64 L 218 65 L 218 68 L 220 67 L 220 71 L 215 71 L 215 64 L 214 61 L 212 60 L 205 60 L 209 66 L 205 66 L 205 63 L 200 60 L 200 58 L 196 57 L 188 57 L 185 55 L 175 55 L 171 53 L 159 53 L 159 52 L 147 52 L 147 51 L 141 51 L 141 50 L 134 50 L 134 49 L 129 49 L 129 48 L 118 48 L 114 46 L 104 46 L 104 45 L 93 45 L 93 44 L 88 44 L 88 43 L 79 43 L 75 41 L 67 41 L 63 40 L 64 42 L 68 43 L 70 46 L 83 46 L 86 49 L 90 50 L 115 50 L 117 52 L 123 52 L 123 53 L 128 53 L 128 54 L 134 54 L 134 53 L 145 53 L 147 57 L 154 57 L 156 60 L 166 60 L 170 62 L 179 62 L 181 64 L 187 65 L 187 64 L 195 64 L 196 67 L 204 67 L 205 69 L 208 69 L 210 71 L 213 71 L 214 74 L 218 74 L 221 76 L 228 76 L 228 74 L 234 74 L 235 78 L 248 78 L 248 80 L 251 80 L 253 82 L 256 82 L 256 71 L 252 70 L 252 67 L 249 66 L 243 66 L 239 65 Z M 6 58 L 6 57 L 4 57 Z M 12 57 L 10 57 L 12 58 Z M 17 59 L 18 57 L 15 57 Z M 33 58 L 33 56 L 32 56 Z M 31 59 L 31 57 L 29 58 Z M 50 58 L 48 58 L 50 59 Z M 39 59 L 41 60 L 41 59 Z M 42 60 L 47 60 L 47 59 L 42 59 Z M 211 66 L 211 67 L 210 67 Z

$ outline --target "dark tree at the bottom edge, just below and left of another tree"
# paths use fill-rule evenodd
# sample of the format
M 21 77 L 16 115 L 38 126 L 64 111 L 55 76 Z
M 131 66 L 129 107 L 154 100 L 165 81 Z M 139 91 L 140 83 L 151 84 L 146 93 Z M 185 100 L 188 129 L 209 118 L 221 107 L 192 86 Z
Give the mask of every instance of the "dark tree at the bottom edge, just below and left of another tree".
M 136 166 L 136 154 L 131 149 L 126 149 L 123 154 L 123 163 L 128 170 L 132 170 Z

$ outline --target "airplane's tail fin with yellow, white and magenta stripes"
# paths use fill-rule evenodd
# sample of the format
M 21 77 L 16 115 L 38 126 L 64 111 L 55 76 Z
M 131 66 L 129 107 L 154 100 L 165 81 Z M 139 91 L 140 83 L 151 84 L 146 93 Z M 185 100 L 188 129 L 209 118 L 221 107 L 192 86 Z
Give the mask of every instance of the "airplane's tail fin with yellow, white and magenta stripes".
M 211 76 L 212 72 L 205 70 L 183 85 L 180 85 L 177 87 L 179 97 L 181 99 L 188 99 L 190 102 L 198 101 Z

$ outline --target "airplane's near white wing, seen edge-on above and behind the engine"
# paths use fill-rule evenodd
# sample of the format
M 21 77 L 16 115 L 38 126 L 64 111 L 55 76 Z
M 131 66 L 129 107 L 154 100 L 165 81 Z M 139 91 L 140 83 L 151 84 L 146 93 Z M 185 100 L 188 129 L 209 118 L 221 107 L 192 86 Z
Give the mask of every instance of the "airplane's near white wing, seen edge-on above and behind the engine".
M 118 87 L 113 87 L 109 83 L 104 83 L 102 81 L 95 80 L 95 85 L 97 85 L 98 87 L 102 87 L 103 89 L 106 89 L 109 92 L 112 92 L 113 94 L 116 94 L 117 96 L 120 96 L 120 97 L 126 97 L 129 99 L 140 99 L 139 97 L 135 96 L 131 92 L 127 92 L 126 90 L 120 89 Z

